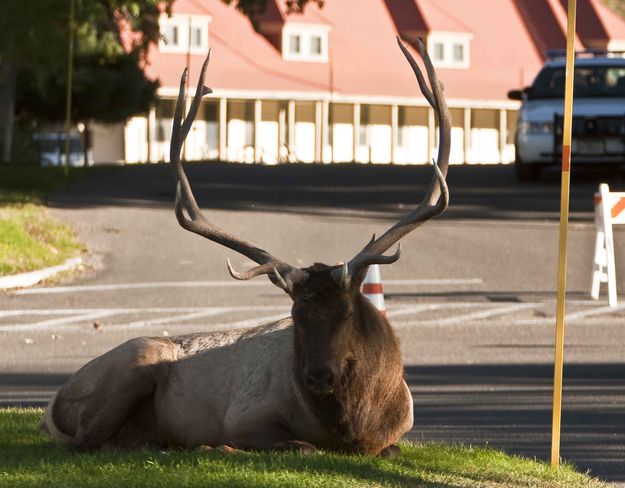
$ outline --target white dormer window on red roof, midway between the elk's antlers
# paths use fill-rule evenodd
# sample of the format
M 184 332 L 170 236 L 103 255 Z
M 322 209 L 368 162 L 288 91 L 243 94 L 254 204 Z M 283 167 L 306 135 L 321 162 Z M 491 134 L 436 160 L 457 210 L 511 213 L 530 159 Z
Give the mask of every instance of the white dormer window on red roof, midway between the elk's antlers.
M 282 30 L 282 57 L 285 61 L 328 61 L 328 31 L 325 25 L 286 24 Z

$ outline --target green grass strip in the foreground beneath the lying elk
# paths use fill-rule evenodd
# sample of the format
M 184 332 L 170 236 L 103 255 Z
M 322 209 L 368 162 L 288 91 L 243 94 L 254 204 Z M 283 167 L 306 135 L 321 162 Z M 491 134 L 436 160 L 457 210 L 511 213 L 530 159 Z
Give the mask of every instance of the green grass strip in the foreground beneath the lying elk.
M 174 450 L 81 453 L 38 432 L 40 409 L 0 409 L 2 487 L 600 487 L 570 466 L 492 449 L 402 445 L 395 459 Z

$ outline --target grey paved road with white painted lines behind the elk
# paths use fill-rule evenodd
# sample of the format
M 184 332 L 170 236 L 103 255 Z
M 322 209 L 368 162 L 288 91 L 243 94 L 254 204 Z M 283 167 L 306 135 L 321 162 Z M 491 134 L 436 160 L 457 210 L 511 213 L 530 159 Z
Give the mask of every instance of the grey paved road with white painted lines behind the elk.
M 351 257 L 418 201 L 431 168 L 197 164 L 188 173 L 211 220 L 306 265 Z M 603 178 L 573 180 L 562 455 L 625 482 L 625 309 L 587 297 L 592 194 Z M 415 396 L 410 437 L 548 459 L 557 175 L 520 185 L 511 168 L 452 167 L 449 183 L 450 210 L 383 269 Z M 172 200 L 169 169 L 156 165 L 99 171 L 50 202 L 89 244 L 89 269 L 64 286 L 0 295 L 0 404 L 43 404 L 67 374 L 129 337 L 288 313 L 266 280 L 229 280 L 226 257 L 250 263 L 183 232 Z

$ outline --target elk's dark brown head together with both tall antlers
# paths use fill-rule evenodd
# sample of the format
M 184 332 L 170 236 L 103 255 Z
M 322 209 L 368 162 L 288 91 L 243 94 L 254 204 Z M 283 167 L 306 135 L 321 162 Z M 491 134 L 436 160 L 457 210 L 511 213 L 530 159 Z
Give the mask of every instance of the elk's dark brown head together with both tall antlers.
M 445 182 L 450 151 L 451 117 L 442 94 L 442 87 L 425 51 L 418 41 L 419 53 L 429 78 L 428 87 L 419 66 L 410 52 L 397 38 L 400 49 L 410 63 L 421 92 L 434 108 L 439 122 L 439 149 L 433 161 L 435 174 L 422 202 L 379 238 L 371 241 L 349 262 L 339 266 L 314 264 L 296 268 L 211 224 L 202 214 L 180 161 L 182 144 L 191 129 L 202 96 L 211 93 L 204 86 L 204 77 L 210 52 L 204 61 L 195 97 L 187 117 L 182 119 L 187 71 L 180 81 L 180 91 L 174 113 L 170 160 L 177 181 L 175 212 L 180 225 L 222 246 L 243 254 L 257 266 L 236 271 L 228 260 L 230 275 L 237 280 L 249 280 L 267 275 L 271 282 L 289 294 L 293 300 L 292 316 L 295 328 L 295 351 L 300 381 L 312 394 L 334 390 L 350 374 L 354 363 L 369 360 L 368 345 L 396 340 L 388 322 L 360 292 L 367 267 L 372 264 L 390 264 L 399 259 L 400 246 L 394 254 L 385 255 L 395 243 L 427 220 L 442 213 L 449 203 Z M 185 216 L 185 211 L 188 217 Z M 380 347 L 382 346 L 382 347 Z M 397 347 L 395 347 L 397 349 Z M 401 362 L 400 362 L 401 364 Z

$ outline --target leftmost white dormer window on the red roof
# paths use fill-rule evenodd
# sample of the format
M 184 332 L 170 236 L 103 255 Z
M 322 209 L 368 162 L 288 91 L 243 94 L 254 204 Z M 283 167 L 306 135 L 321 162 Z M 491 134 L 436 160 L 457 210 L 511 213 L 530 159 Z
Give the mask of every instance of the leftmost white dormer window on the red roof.
M 161 15 L 161 39 L 158 48 L 164 53 L 205 54 L 208 51 L 207 15 Z

